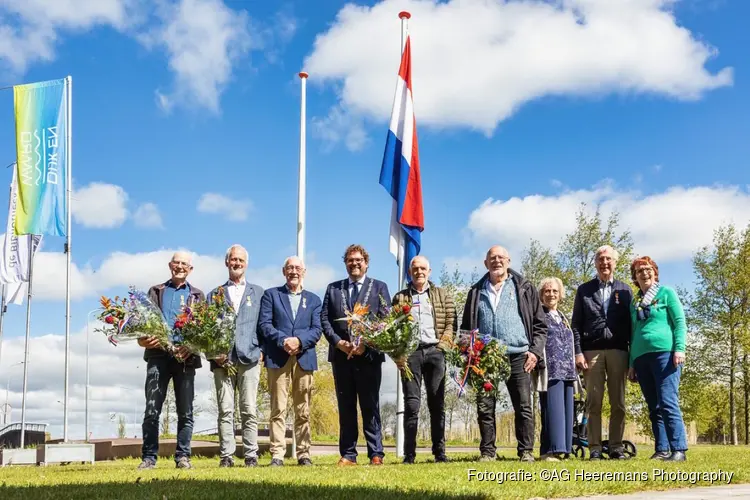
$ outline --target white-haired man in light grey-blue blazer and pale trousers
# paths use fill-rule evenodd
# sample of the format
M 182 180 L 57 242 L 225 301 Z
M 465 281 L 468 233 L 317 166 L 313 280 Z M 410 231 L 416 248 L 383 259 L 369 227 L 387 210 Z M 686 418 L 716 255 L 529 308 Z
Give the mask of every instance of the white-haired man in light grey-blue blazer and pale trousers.
M 229 270 L 229 279 L 209 294 L 214 299 L 219 289 L 234 307 L 237 314 L 235 338 L 232 350 L 211 360 L 214 374 L 216 400 L 219 403 L 219 467 L 233 467 L 237 445 L 234 439 L 234 395 L 239 392 L 239 409 L 242 420 L 242 446 L 245 466 L 258 465 L 258 411 L 257 396 L 260 381 L 262 353 L 258 339 L 258 317 L 263 288 L 245 281 L 247 270 L 247 250 L 241 245 L 232 245 L 227 250 L 224 262 Z M 237 374 L 230 377 L 224 365 L 230 361 L 237 368 Z

